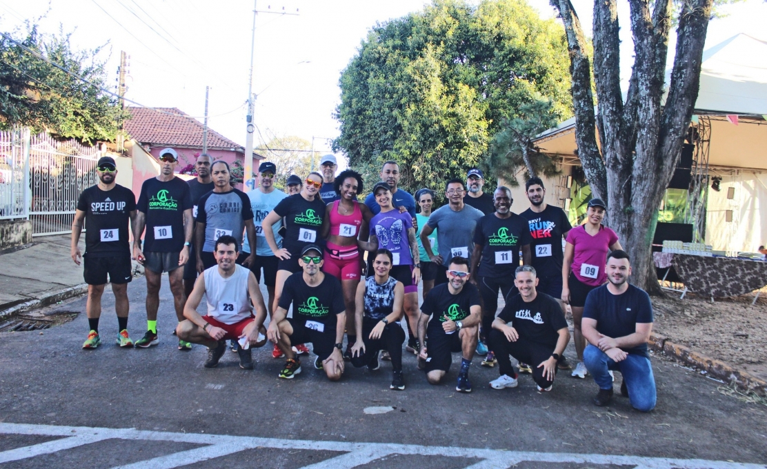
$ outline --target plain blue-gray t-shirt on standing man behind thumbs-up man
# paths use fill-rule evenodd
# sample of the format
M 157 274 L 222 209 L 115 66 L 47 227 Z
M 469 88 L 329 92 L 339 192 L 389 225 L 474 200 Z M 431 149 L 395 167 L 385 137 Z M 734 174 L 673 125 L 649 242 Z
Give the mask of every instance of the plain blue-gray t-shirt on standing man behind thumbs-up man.
M 436 241 L 443 262 L 447 263 L 455 256 L 466 259 L 471 257 L 474 250 L 474 228 L 483 216 L 484 213 L 469 205 L 463 205 L 460 212 L 454 212 L 450 205 L 443 205 L 432 212 L 427 224 L 438 228 Z

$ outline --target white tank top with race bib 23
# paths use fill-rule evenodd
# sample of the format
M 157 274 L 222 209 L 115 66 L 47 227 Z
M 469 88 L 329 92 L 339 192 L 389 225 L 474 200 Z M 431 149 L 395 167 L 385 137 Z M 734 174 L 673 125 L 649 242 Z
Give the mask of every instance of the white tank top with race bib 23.
M 248 297 L 249 274 L 250 271 L 242 265 L 235 265 L 235 273 L 229 278 L 219 274 L 218 265 L 206 269 L 203 275 L 208 316 L 225 324 L 239 323 L 252 316 Z

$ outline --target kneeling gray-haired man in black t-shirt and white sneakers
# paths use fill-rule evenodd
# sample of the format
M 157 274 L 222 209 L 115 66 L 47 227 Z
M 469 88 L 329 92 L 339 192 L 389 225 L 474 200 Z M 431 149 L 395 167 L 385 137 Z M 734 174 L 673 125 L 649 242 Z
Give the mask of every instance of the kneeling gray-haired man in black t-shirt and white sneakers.
M 559 303 L 545 293 L 538 293 L 535 267 L 521 265 L 515 271 L 514 284 L 519 294 L 492 323 L 490 343 L 498 360 L 501 377 L 490 382 L 492 389 L 517 387 L 517 373 L 509 355 L 519 362 L 538 366 L 532 379 L 538 391 L 551 391 L 557 361 L 570 341 L 570 332 Z

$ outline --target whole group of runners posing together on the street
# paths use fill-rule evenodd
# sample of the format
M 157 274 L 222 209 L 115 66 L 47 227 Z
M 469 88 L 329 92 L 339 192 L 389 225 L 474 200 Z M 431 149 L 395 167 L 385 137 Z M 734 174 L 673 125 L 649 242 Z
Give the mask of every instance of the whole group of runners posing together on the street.
M 364 202 L 357 201 L 362 175 L 349 169 L 336 175 L 333 155 L 321 159 L 320 172 L 291 175 L 285 192 L 274 186 L 275 164 L 262 162 L 259 184 L 247 194 L 232 187 L 224 161 L 199 156 L 197 177 L 188 182 L 174 174 L 173 149 L 160 152 L 160 163 L 160 175 L 143 182 L 136 202 L 115 183 L 114 159 L 101 158 L 100 182 L 78 202 L 71 255 L 80 264 L 77 242 L 85 222 L 85 349 L 100 344 L 107 274 L 116 297 L 117 343 L 156 345 L 160 280 L 167 272 L 178 348 L 208 347 L 208 368 L 218 365 L 229 341 L 240 366 L 252 369 L 252 349 L 271 341 L 272 356 L 286 359 L 279 376 L 293 379 L 311 343 L 314 368 L 328 379 L 340 379 L 346 362 L 377 370 L 390 361 L 390 389 L 402 390 L 404 346 L 432 384 L 449 372 L 452 353 L 461 353 L 459 392 L 472 391 L 469 368 L 478 354 L 482 366 L 499 368 L 492 389 L 514 388 L 518 372 L 526 372 L 539 392 L 549 392 L 558 370 L 572 369 L 576 378 L 594 376 L 594 403 L 606 405 L 612 372 L 619 370 L 621 394 L 634 408 L 655 405 L 647 353 L 652 307 L 643 290 L 627 283 L 628 254 L 602 225 L 606 205 L 598 198 L 588 202 L 584 225 L 572 228 L 561 208 L 545 202 L 538 178 L 525 184 L 529 208 L 515 214 L 511 190 L 483 192 L 480 169 L 447 181 L 447 203 L 433 210 L 432 190 L 420 189 L 413 198 L 398 187 L 394 161 L 384 163 Z M 143 264 L 147 289 L 147 331 L 135 343 L 127 333 L 131 257 Z M 266 301 L 258 287 L 262 277 Z M 499 294 L 505 300 L 500 312 Z M 568 310 L 574 367 L 564 356 Z

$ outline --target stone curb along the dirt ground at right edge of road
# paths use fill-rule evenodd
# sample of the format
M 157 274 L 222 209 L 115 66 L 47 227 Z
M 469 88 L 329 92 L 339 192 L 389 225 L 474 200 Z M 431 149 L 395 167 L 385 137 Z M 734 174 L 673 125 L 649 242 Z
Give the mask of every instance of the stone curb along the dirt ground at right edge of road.
M 697 353 L 690 347 L 673 343 L 665 336 L 651 333 L 648 345 L 657 352 L 663 352 L 667 356 L 673 356 L 688 365 L 706 371 L 709 376 L 723 379 L 727 383 L 734 382 L 740 389 L 746 391 L 767 395 L 767 382 L 765 380 L 759 379 L 749 372 L 736 369 L 721 360 Z

